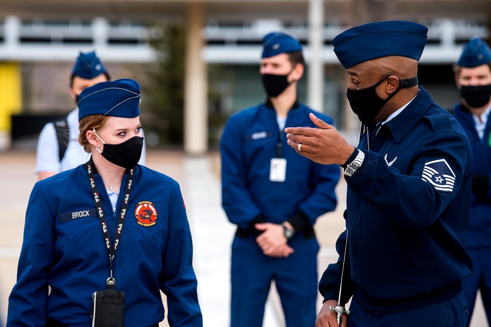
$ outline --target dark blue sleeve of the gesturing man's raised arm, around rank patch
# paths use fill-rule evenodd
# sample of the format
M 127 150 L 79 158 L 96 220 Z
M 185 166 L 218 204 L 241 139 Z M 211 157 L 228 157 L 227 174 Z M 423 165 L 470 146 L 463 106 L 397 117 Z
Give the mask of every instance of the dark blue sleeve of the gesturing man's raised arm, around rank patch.
M 469 178 L 470 181 L 470 151 L 464 135 L 448 129 L 440 130 L 421 140 L 412 156 L 414 163 L 409 175 L 401 174 L 394 166 L 389 167 L 382 155 L 364 150 L 362 166 L 346 181 L 360 199 L 370 203 L 388 219 L 407 227 L 426 228 L 452 201 L 464 179 Z M 425 164 L 440 159 L 448 163 L 455 175 L 452 191 L 437 190 L 422 178 Z M 465 187 L 470 186 L 469 181 L 465 181 Z

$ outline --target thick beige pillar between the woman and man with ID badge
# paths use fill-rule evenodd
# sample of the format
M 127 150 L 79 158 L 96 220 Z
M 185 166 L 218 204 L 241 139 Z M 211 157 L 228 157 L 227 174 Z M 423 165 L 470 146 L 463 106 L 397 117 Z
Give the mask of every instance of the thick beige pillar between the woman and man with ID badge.
M 207 70 L 201 51 L 204 40 L 202 2 L 191 2 L 187 8 L 186 66 L 184 85 L 184 151 L 202 155 L 208 151 L 208 85 Z

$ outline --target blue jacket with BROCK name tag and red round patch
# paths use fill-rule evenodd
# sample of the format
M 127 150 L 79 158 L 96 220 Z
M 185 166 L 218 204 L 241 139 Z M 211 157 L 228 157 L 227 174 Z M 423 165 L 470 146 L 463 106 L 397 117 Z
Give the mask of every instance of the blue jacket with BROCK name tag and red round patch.
M 114 242 L 123 192 L 113 215 L 101 176 L 95 174 L 95 180 Z M 125 175 L 123 188 L 127 180 Z M 153 203 L 157 211 L 153 226 L 137 223 L 135 212 L 142 201 Z M 191 233 L 179 185 L 138 165 L 128 210 L 113 271 L 116 290 L 126 295 L 125 327 L 150 327 L 164 320 L 161 290 L 167 295 L 170 326 L 202 327 Z M 67 220 L 63 215 L 86 216 L 72 213 L 87 211 L 89 217 Z M 17 283 L 9 297 L 8 327 L 43 327 L 47 320 L 70 327 L 92 326 L 92 293 L 106 289 L 109 277 L 109 257 L 95 211 L 82 165 L 35 184 L 27 206 Z

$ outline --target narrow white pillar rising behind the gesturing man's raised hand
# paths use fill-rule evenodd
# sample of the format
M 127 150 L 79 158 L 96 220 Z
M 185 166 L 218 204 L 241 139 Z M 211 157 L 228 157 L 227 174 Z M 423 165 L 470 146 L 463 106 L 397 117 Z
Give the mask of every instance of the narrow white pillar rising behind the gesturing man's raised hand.
M 324 0 L 309 0 L 309 63 L 307 81 L 308 105 L 324 111 Z

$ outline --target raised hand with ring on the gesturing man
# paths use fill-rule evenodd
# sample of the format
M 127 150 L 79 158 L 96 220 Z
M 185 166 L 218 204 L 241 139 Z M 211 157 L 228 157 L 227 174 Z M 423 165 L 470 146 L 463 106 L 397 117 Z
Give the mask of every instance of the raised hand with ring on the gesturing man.
M 332 126 L 313 113 L 310 120 L 319 128 L 285 128 L 288 144 L 300 155 L 319 164 L 345 164 L 355 151 L 346 139 Z M 298 150 L 299 143 L 301 151 Z

